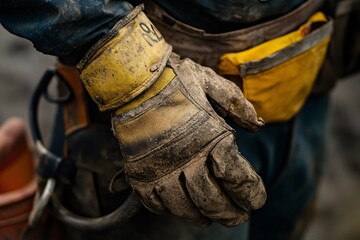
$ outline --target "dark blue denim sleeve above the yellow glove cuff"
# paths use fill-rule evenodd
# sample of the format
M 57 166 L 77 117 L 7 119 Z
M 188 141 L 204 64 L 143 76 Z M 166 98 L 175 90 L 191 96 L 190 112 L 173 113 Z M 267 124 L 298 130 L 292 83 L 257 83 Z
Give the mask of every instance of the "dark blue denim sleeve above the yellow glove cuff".
M 0 23 L 45 54 L 71 56 L 106 34 L 132 9 L 119 0 L 0 1 Z

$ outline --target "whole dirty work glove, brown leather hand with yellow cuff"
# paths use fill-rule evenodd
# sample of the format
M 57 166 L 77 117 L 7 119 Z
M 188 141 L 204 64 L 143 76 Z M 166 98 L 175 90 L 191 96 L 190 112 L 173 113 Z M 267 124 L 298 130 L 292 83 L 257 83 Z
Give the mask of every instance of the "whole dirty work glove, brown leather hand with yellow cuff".
M 234 226 L 264 204 L 262 180 L 214 108 L 251 130 L 263 121 L 235 84 L 172 53 L 141 7 L 78 68 L 99 108 L 112 111 L 127 181 L 149 210 Z

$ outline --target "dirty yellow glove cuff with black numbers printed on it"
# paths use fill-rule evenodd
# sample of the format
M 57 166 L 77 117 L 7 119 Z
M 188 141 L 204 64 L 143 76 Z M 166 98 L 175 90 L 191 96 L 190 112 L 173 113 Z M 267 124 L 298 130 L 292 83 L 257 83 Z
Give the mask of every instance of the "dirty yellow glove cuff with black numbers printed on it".
M 80 76 L 101 111 L 114 109 L 156 81 L 169 48 L 141 12 L 96 52 Z

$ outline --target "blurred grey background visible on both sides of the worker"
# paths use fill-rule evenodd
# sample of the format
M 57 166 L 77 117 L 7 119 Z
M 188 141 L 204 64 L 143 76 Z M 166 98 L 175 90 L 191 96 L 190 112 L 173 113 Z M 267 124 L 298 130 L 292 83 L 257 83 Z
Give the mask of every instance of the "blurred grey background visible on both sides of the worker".
M 55 59 L 0 26 L 0 123 L 11 116 L 28 122 L 29 100 Z M 360 69 L 359 69 L 360 70 Z M 306 240 L 360 240 L 360 72 L 342 79 L 331 94 L 328 162 L 319 189 L 316 215 Z M 45 140 L 54 107 L 41 103 Z

